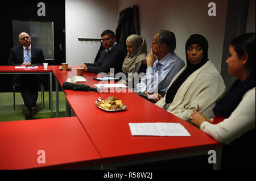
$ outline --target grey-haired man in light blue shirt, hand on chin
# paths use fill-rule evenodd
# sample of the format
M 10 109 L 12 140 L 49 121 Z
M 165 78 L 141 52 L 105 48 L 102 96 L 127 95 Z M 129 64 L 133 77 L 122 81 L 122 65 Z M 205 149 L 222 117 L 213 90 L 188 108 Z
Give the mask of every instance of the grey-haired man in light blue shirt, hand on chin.
M 146 57 L 146 75 L 136 88 L 138 95 L 157 102 L 164 96 L 170 82 L 185 66 L 185 62 L 174 53 L 176 38 L 171 31 L 161 30 L 156 33 L 150 47 L 151 53 Z

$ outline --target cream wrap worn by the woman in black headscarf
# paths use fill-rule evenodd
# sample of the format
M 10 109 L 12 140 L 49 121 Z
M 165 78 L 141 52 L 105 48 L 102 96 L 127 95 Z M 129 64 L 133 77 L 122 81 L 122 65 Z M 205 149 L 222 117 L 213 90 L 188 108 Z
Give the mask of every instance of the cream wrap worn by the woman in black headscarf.
M 177 73 L 172 83 L 187 66 Z M 172 103 L 166 105 L 166 95 L 156 105 L 171 112 L 183 120 L 189 121 L 193 110 L 199 105 L 199 112 L 205 117 L 213 117 L 213 107 L 226 91 L 224 81 L 212 62 L 207 61 L 200 69 L 193 72 L 180 86 Z

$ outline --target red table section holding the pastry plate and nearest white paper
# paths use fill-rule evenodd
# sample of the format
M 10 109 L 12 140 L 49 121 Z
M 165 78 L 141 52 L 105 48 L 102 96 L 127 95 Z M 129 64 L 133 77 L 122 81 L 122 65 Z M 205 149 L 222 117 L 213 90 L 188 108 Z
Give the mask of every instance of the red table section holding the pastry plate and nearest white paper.
M 95 105 L 99 96 L 118 97 L 127 110 L 102 111 Z M 220 168 L 222 144 L 135 93 L 86 92 L 66 95 L 66 99 L 99 151 L 105 168 L 208 154 L 212 149 L 217 155 L 213 169 Z M 191 137 L 131 136 L 128 123 L 149 122 L 180 123 Z

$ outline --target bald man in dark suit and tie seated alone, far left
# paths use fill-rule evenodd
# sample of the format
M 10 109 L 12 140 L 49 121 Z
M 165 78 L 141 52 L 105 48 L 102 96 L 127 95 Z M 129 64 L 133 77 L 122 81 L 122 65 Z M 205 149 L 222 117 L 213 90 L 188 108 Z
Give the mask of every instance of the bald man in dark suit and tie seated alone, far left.
M 9 65 L 43 65 L 43 51 L 31 45 L 31 37 L 28 33 L 22 32 L 19 34 L 19 43 L 22 45 L 11 49 Z M 32 119 L 36 112 L 38 112 L 36 101 L 38 99 L 39 79 L 37 74 L 19 74 L 14 76 L 14 82 L 20 85 L 20 93 L 24 101 L 22 112 L 25 115 L 25 119 Z

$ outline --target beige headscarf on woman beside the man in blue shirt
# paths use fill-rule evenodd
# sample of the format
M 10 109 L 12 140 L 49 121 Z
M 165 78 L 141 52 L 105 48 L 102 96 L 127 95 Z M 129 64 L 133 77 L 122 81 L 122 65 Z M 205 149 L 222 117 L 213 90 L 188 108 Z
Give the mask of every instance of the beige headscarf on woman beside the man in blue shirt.
M 127 37 L 127 41 L 130 41 L 135 51 L 133 54 L 127 53 L 125 60 L 123 61 L 124 73 L 135 73 L 141 68 L 142 60 L 146 60 L 147 56 L 147 44 L 145 39 L 139 35 L 130 35 Z

